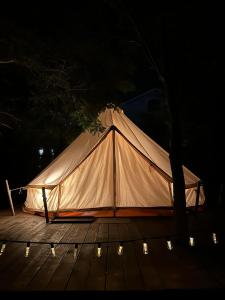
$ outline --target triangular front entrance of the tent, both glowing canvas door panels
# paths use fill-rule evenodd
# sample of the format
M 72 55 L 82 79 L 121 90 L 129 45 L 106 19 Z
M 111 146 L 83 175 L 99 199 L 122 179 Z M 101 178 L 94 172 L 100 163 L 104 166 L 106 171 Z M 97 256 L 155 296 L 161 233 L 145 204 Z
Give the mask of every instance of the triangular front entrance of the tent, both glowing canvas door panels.
M 116 216 L 128 214 L 128 210 L 117 213 L 119 208 L 130 208 L 131 215 L 144 215 L 143 210 L 134 212 L 134 208 L 155 207 L 157 202 L 160 207 L 171 206 L 168 178 L 115 126 L 79 168 L 60 184 L 60 191 L 61 186 L 58 213 L 86 210 L 89 215 L 92 209 L 95 215 Z M 103 214 L 105 208 L 109 210 Z

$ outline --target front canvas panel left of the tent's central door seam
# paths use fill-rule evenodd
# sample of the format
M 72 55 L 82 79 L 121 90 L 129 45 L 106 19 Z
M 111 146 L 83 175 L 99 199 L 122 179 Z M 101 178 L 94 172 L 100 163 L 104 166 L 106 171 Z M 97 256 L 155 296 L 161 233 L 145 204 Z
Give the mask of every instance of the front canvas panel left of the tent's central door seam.
M 60 209 L 113 206 L 112 132 L 62 183 Z

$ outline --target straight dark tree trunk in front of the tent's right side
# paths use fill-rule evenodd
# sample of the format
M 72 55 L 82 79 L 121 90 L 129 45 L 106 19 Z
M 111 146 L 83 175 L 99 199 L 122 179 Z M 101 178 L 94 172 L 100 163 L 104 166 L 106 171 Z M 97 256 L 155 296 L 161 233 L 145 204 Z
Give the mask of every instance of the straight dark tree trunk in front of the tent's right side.
M 172 20 L 171 20 L 172 19 Z M 165 97 L 171 118 L 170 164 L 173 177 L 173 197 L 176 233 L 180 241 L 184 241 L 188 234 L 188 220 L 186 215 L 185 181 L 181 156 L 181 133 L 179 120 L 179 53 L 177 46 L 176 24 L 173 18 L 162 20 L 162 39 L 164 52 L 164 70 L 167 84 L 163 83 Z M 174 30 L 173 30 L 174 29 Z M 171 34 L 172 33 L 172 34 Z M 176 78 L 176 80 L 174 80 Z M 169 87 L 169 88 L 168 88 Z

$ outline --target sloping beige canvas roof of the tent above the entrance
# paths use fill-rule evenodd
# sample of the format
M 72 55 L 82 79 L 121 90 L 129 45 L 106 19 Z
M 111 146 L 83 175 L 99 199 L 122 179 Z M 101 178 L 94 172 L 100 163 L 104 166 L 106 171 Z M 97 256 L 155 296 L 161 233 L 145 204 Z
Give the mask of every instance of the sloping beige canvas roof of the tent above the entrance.
M 47 166 L 28 186 L 53 187 L 62 182 L 84 160 L 99 142 L 107 135 L 112 126 L 115 126 L 130 144 L 140 151 L 148 160 L 172 179 L 169 154 L 156 142 L 138 128 L 119 108 L 109 109 L 99 115 L 103 132 L 91 134 L 85 131 L 80 134 L 49 166 Z M 199 181 L 187 168 L 183 168 L 185 184 L 190 185 Z

